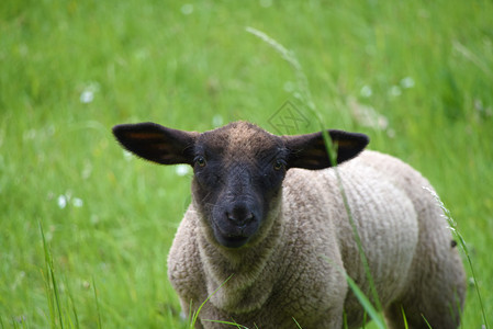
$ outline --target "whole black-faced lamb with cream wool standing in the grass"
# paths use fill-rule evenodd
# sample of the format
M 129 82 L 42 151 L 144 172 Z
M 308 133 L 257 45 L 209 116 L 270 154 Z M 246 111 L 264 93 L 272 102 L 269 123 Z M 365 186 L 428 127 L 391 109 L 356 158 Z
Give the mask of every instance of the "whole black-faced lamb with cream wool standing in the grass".
M 459 326 L 464 271 L 423 189 L 432 188 L 401 160 L 363 150 L 366 135 L 328 131 L 336 172 L 322 133 L 276 136 L 246 122 L 202 134 L 154 123 L 113 133 L 144 159 L 193 168 L 168 276 L 184 314 L 210 297 L 198 328 L 363 325 L 345 273 L 367 296 L 370 283 L 337 172 L 389 327 L 405 328 L 402 311 L 408 328 Z

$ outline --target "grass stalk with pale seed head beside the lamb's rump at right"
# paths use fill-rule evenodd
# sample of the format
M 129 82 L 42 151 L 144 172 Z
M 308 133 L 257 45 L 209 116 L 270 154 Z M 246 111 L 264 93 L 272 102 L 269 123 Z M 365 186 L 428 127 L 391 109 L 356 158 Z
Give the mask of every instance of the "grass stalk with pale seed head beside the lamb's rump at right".
M 472 264 L 472 260 L 471 260 L 471 257 L 470 257 L 470 252 L 469 252 L 468 246 L 466 245 L 466 240 L 463 239 L 462 235 L 457 229 L 457 223 L 453 219 L 450 211 L 445 206 L 444 202 L 438 196 L 438 194 L 435 191 L 433 191 L 432 189 L 428 189 L 428 188 L 423 188 L 423 189 L 428 191 L 435 197 L 435 200 L 437 201 L 437 203 L 440 206 L 441 211 L 444 212 L 442 216 L 444 216 L 445 219 L 447 219 L 447 223 L 449 225 L 449 228 L 450 228 L 452 235 L 459 241 L 460 248 L 462 248 L 462 251 L 463 251 L 463 253 L 466 256 L 466 259 L 468 260 L 469 269 L 471 270 L 471 275 L 472 275 L 472 280 L 474 282 L 475 293 L 478 295 L 478 300 L 479 300 L 480 307 L 481 307 L 481 315 L 482 315 L 483 321 L 484 321 L 484 328 L 488 329 L 488 328 L 490 328 L 490 326 L 488 324 L 486 311 L 484 309 L 483 298 L 481 296 L 480 286 L 479 286 L 478 280 L 477 280 L 474 266 Z

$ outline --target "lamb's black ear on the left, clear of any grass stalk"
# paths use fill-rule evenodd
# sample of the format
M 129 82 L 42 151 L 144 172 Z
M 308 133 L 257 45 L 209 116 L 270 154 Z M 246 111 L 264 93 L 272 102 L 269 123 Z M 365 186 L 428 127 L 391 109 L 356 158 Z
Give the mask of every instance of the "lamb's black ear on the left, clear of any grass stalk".
M 146 160 L 161 164 L 192 164 L 193 145 L 199 134 L 139 123 L 114 126 L 113 135 L 123 148 Z

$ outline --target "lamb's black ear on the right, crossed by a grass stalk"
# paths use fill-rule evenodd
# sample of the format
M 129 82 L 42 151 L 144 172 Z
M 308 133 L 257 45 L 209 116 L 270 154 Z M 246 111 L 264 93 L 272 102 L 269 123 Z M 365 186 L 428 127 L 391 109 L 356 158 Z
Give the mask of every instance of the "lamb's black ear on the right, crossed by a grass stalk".
M 355 158 L 369 143 L 367 135 L 341 131 L 327 132 L 337 151 L 337 164 Z M 324 169 L 334 166 L 330 162 L 322 133 L 298 136 L 283 136 L 285 147 L 290 150 L 288 168 Z

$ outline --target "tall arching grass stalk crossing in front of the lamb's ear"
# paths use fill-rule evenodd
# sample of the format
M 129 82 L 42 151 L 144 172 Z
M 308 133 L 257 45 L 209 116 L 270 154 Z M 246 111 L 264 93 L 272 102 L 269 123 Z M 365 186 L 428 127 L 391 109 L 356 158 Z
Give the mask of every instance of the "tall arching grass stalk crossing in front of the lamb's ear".
M 336 149 L 336 145 L 333 143 L 333 140 L 330 139 L 330 137 L 328 136 L 328 133 L 323 124 L 322 117 L 320 115 L 320 112 L 316 109 L 316 105 L 312 99 L 312 93 L 310 91 L 310 84 L 309 84 L 309 80 L 306 78 L 306 75 L 303 71 L 302 66 L 300 65 L 300 61 L 298 60 L 295 54 L 292 50 L 289 50 L 288 48 L 285 48 L 282 44 L 280 44 L 279 42 L 277 42 L 274 38 L 270 37 L 269 35 L 267 35 L 265 32 L 261 32 L 259 30 L 256 30 L 254 27 L 246 27 L 246 31 L 254 34 L 255 36 L 259 37 L 261 41 L 266 42 L 268 45 L 270 45 L 272 48 L 274 48 L 279 54 L 281 54 L 282 58 L 285 59 L 294 69 L 295 76 L 296 76 L 296 82 L 298 82 L 298 87 L 300 89 L 300 92 L 302 94 L 302 100 L 304 100 L 304 102 L 307 104 L 309 110 L 312 112 L 313 116 L 316 117 L 317 123 L 320 125 L 320 129 L 322 131 L 322 135 L 324 137 L 324 141 L 325 141 L 325 147 L 327 149 L 327 154 L 329 157 L 329 160 L 332 163 L 336 163 L 336 158 L 337 158 L 337 149 Z M 348 215 L 351 228 L 352 228 L 352 234 L 356 240 L 356 243 L 358 246 L 358 251 L 360 254 L 360 259 L 361 259 L 361 263 L 365 268 L 365 272 L 366 272 L 366 276 L 367 280 L 369 282 L 370 285 L 370 291 L 371 294 L 373 296 L 373 299 L 377 305 L 377 310 L 380 311 L 382 309 L 381 304 L 380 304 L 380 298 L 378 296 L 377 293 L 377 288 L 374 286 L 374 281 L 373 281 L 373 276 L 371 275 L 370 272 L 370 266 L 368 264 L 368 260 L 367 257 L 365 254 L 365 251 L 362 249 L 362 243 L 361 243 L 361 238 L 358 234 L 358 229 L 356 227 L 355 220 L 352 218 L 352 214 L 351 214 L 351 209 L 349 207 L 349 203 L 348 203 L 348 198 L 346 195 L 346 192 L 344 190 L 344 185 L 343 185 L 343 180 L 340 178 L 339 171 L 337 170 L 337 166 L 334 166 L 336 175 L 337 175 L 337 182 L 339 185 L 339 191 L 340 194 L 343 196 L 343 201 L 344 201 L 344 205 L 346 208 L 346 213 Z M 354 293 L 358 296 L 360 294 L 362 294 L 362 292 L 359 290 L 359 287 L 356 285 L 356 283 L 346 274 L 346 277 L 349 279 L 348 283 L 349 286 L 351 287 L 351 290 L 354 291 Z M 357 288 L 357 290 L 355 290 Z M 359 296 L 358 299 L 361 302 L 362 299 L 360 299 L 362 296 Z M 366 298 L 366 296 L 365 296 Z M 368 298 L 366 298 L 366 300 L 368 300 Z M 371 316 L 371 318 L 377 322 L 377 324 L 381 324 L 380 328 L 385 328 L 383 322 L 381 321 L 380 316 L 378 315 L 378 311 L 374 311 L 374 308 L 371 306 L 371 303 L 363 303 L 361 304 L 365 309 L 368 311 L 368 314 Z M 371 308 L 368 308 L 368 306 L 371 306 Z M 380 325 L 379 325 L 380 326 Z

